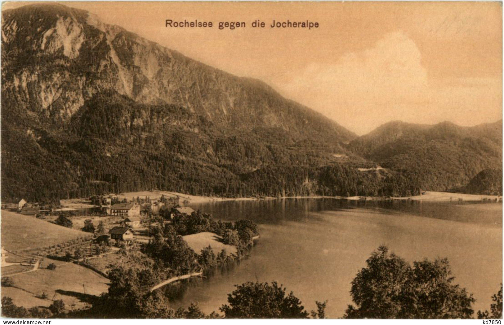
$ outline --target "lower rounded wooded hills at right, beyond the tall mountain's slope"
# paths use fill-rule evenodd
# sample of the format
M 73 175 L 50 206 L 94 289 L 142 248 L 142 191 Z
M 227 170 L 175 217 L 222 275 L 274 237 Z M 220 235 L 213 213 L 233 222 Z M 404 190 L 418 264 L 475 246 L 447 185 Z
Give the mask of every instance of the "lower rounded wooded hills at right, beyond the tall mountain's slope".
M 502 166 L 502 121 L 461 127 L 394 121 L 352 140 L 354 152 L 417 179 L 423 190 L 453 191 Z

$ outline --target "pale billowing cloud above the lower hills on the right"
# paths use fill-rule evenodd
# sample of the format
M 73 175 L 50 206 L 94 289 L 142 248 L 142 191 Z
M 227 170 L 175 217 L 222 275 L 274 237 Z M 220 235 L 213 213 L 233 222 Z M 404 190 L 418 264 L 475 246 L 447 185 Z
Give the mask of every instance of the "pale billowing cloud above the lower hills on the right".
M 287 97 L 363 134 L 391 120 L 474 123 L 471 114 L 482 103 L 501 101 L 499 85 L 501 80 L 491 78 L 429 79 L 419 47 L 399 31 L 332 64 L 312 63 L 280 88 Z M 495 112 L 496 120 L 499 107 Z

